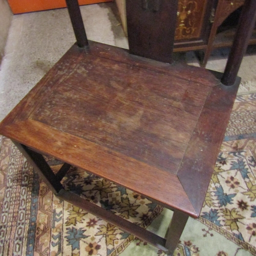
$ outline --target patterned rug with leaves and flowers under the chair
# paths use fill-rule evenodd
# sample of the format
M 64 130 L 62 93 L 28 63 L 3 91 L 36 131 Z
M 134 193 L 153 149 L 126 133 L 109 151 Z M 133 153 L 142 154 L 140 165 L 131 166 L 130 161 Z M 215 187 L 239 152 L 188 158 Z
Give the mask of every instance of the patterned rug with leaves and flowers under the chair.
M 165 255 L 56 198 L 11 141 L 0 137 L 0 255 Z M 176 256 L 256 255 L 256 94 L 237 97 L 201 217 L 189 218 Z M 61 165 L 46 158 L 54 170 Z M 161 236 L 172 211 L 75 167 L 63 184 Z

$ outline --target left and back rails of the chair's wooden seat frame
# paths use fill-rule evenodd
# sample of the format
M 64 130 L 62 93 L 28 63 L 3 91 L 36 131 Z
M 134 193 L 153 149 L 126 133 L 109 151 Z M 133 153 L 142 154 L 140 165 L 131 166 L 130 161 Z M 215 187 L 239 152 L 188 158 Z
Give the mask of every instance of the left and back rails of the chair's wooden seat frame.
M 93 41 L 89 41 L 89 43 L 89 49 L 81 49 L 77 47 L 76 44 L 73 45 L 70 50 L 60 58 L 54 67 L 39 81 L 37 86 L 34 87 L 22 102 L 20 102 L 5 118 L 5 125 L 14 121 L 26 120 L 29 118 L 34 109 L 47 99 L 48 94 L 54 90 L 54 87 L 61 84 L 62 81 L 67 79 L 67 77 L 75 72 L 76 69 L 79 69 L 80 61 L 83 58 L 87 58 L 88 55 L 113 59 L 145 70 L 154 70 L 155 72 L 168 74 L 169 76 L 172 76 L 172 80 L 181 78 L 189 82 L 195 82 L 204 92 L 207 90 L 204 88 L 205 86 L 216 86 L 220 82 L 210 71 L 202 68 L 193 66 L 186 66 L 186 68 L 184 68 L 184 65 L 180 65 L 179 63 L 175 63 L 176 65 L 169 65 L 163 62 L 130 55 L 125 49 Z M 198 73 L 200 73 L 200 76 L 198 76 Z M 76 85 L 74 87 L 76 87 Z

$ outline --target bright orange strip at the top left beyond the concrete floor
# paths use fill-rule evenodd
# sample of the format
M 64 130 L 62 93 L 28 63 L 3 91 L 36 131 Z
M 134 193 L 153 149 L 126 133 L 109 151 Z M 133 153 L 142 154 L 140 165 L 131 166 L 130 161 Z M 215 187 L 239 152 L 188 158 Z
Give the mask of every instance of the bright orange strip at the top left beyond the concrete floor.
M 78 0 L 79 5 L 90 5 L 112 0 Z M 14 14 L 66 7 L 65 0 L 8 0 Z

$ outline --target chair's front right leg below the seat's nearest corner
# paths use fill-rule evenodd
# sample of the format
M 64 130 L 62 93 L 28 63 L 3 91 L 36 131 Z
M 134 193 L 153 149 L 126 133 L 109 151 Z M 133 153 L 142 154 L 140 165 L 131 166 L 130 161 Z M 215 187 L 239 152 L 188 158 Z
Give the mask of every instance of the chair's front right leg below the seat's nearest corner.
M 174 211 L 172 221 L 170 222 L 165 247 L 168 249 L 167 254 L 173 255 L 180 241 L 181 234 L 186 226 L 188 215 L 180 211 Z

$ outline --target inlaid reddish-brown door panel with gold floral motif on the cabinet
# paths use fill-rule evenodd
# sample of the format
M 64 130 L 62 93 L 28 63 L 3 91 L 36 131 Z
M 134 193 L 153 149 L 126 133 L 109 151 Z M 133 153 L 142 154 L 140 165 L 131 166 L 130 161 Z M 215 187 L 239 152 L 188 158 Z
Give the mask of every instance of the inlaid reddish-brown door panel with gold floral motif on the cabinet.
M 207 0 L 179 0 L 175 40 L 200 38 Z

